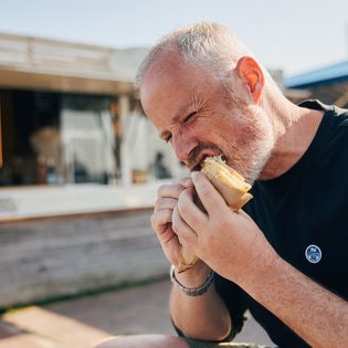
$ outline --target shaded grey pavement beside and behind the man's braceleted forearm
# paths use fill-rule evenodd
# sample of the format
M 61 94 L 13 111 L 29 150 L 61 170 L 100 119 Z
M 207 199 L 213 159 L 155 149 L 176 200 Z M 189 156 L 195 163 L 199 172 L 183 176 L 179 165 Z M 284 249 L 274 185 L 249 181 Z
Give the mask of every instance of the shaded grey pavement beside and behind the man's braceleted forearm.
M 114 335 L 173 335 L 167 305 L 169 288 L 169 282 L 161 281 L 125 291 L 61 302 L 45 306 L 45 309 Z M 272 346 L 264 330 L 252 318 L 247 319 L 236 340 Z

